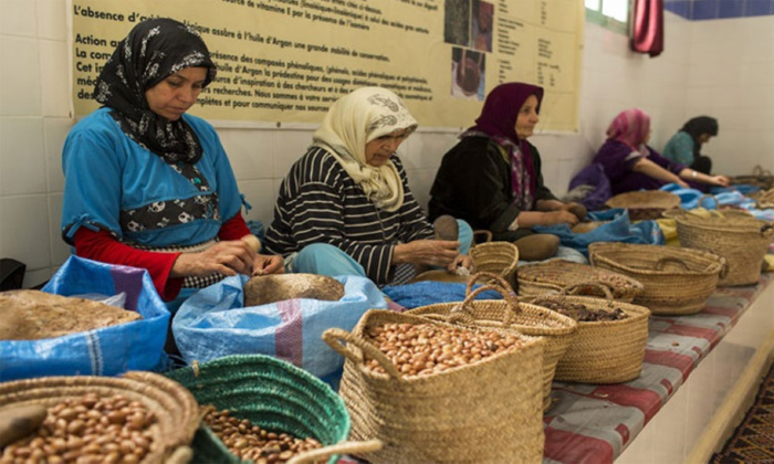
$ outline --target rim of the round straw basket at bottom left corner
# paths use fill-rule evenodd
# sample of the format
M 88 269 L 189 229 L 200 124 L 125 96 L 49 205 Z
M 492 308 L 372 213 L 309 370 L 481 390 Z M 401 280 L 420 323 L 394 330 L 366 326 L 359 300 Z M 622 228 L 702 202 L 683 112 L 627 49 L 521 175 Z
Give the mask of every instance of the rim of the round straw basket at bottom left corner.
M 153 372 L 130 371 L 122 377 L 41 377 L 0 383 L 0 414 L 6 408 L 27 404 L 51 408 L 86 393 L 100 398 L 121 394 L 128 401 L 140 401 L 154 413 L 156 423 L 148 429 L 153 440 L 143 463 L 190 458 L 188 445 L 200 420 L 196 400 L 179 383 Z

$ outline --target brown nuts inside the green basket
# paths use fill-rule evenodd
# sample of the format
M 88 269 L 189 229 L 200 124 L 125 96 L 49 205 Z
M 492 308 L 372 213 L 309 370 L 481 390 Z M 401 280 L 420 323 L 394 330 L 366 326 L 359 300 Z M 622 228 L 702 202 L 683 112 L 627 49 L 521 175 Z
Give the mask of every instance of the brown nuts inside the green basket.
M 219 411 L 215 405 L 200 407 L 207 426 L 241 460 L 255 464 L 284 463 L 305 451 L 322 447 L 317 440 L 299 439 L 287 433 L 274 433 L 253 425 L 247 419 Z

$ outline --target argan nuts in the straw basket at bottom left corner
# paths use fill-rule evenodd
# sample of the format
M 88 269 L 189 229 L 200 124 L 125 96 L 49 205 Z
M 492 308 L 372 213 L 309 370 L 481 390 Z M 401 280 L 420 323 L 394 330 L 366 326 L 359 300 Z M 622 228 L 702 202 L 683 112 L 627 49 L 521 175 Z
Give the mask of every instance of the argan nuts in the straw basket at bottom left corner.
M 154 422 L 140 401 L 86 393 L 49 408 L 38 432 L 6 446 L 0 463 L 138 463 L 150 451 Z

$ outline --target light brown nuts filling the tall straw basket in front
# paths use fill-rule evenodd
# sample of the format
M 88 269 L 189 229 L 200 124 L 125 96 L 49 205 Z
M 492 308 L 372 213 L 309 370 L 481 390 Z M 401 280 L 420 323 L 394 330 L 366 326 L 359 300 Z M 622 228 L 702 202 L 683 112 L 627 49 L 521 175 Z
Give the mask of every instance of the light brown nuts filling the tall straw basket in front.
M 373 327 L 366 335 L 404 376 L 442 372 L 523 346 L 523 339 L 515 335 L 433 324 L 390 323 Z M 367 359 L 366 367 L 385 372 L 375 359 Z

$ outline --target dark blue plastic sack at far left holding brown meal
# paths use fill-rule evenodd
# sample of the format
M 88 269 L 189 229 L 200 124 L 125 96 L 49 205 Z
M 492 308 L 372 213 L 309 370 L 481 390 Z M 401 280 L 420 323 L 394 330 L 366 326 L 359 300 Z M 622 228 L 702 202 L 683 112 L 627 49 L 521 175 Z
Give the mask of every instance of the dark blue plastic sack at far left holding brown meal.
M 0 341 L 0 381 L 43 376 L 115 376 L 166 366 L 169 312 L 145 270 L 71 256 L 43 292 L 75 296 L 126 294 L 142 319 L 41 340 Z

